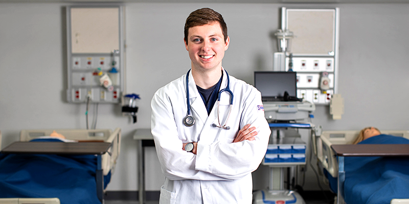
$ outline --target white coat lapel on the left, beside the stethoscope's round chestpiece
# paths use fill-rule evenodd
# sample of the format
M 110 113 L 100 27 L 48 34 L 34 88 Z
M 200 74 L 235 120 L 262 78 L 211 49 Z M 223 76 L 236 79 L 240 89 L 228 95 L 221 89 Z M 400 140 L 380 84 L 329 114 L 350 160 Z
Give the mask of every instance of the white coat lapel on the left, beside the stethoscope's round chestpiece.
M 192 114 L 194 112 L 195 115 L 200 118 L 201 122 L 205 123 L 206 119 L 208 118 L 208 111 L 206 110 L 205 103 L 203 103 L 203 100 L 201 99 L 201 96 L 197 91 L 192 72 L 189 73 L 189 99 Z

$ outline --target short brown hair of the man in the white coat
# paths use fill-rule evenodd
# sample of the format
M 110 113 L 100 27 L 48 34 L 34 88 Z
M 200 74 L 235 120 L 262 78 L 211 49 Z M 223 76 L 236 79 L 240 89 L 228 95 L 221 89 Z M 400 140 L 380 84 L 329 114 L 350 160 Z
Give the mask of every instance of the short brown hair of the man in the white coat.
M 211 22 L 219 22 L 221 32 L 223 33 L 224 42 L 227 40 L 227 25 L 224 22 L 220 13 L 217 13 L 213 9 L 202 8 L 190 13 L 185 23 L 185 41 L 188 43 L 189 29 L 199 25 L 206 25 Z

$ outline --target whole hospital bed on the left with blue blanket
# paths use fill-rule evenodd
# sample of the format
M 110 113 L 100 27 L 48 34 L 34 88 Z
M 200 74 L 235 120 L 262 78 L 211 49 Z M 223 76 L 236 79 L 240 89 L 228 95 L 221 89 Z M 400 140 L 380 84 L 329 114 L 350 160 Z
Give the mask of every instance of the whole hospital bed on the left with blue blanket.
M 49 137 L 53 131 L 63 135 L 66 139 L 61 140 Z M 63 143 L 46 142 L 49 140 L 61 140 Z M 30 203 L 50 203 L 50 198 L 59 198 L 61 204 L 80 202 L 103 203 L 106 185 L 110 182 L 120 154 L 120 144 L 121 129 L 119 128 L 113 132 L 109 129 L 22 130 L 20 132 L 20 141 L 14 142 L 2 149 L 2 154 L 0 155 L 0 165 L 20 170 L 19 172 L 7 172 L 6 169 L 8 168 L 0 170 L 0 197 L 20 199 L 22 197 L 44 198 L 43 202 Z M 48 145 L 49 148 L 40 149 L 41 145 Z M 101 148 L 104 150 L 101 150 Z M 21 164 L 17 164 L 17 161 Z M 35 162 L 38 162 L 38 164 Z M 44 173 L 47 175 L 42 176 L 56 174 L 49 181 L 39 181 L 40 179 L 36 175 L 37 173 L 42 174 L 43 172 L 41 171 L 44 169 L 48 171 L 48 167 L 44 166 L 43 162 L 49 162 L 46 164 L 50 164 L 51 173 Z M 23 169 L 21 166 L 27 166 L 28 169 Z M 36 171 L 33 169 L 36 169 Z M 68 174 L 69 172 L 71 174 Z M 63 178 L 57 176 L 59 174 Z M 26 182 L 25 186 L 18 186 L 19 184 L 14 186 L 16 182 L 10 181 L 19 180 L 25 176 L 28 178 L 27 181 L 18 181 L 20 183 Z M 82 176 L 85 176 L 84 179 Z M 3 178 L 3 181 L 1 181 L 1 178 Z M 49 183 L 53 182 L 55 184 L 52 185 L 58 187 L 50 186 L 51 184 Z M 65 186 L 67 189 L 59 189 L 65 188 Z M 38 190 L 36 189 L 37 187 L 44 187 L 44 189 Z M 5 193 L 4 191 L 2 193 L 4 189 L 10 190 L 10 193 Z M 27 203 L 7 202 L 6 199 L 3 201 L 0 199 L 0 203 Z M 53 201 L 52 203 L 59 202 Z

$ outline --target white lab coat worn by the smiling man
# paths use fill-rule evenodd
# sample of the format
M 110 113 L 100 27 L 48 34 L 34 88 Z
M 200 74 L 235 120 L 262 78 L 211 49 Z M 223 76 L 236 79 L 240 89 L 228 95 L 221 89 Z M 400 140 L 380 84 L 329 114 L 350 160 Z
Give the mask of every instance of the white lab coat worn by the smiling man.
M 223 70 L 224 72 L 224 70 Z M 226 87 L 226 72 L 220 89 Z M 234 94 L 227 126 L 218 124 L 217 101 L 208 116 L 197 91 L 192 72 L 189 74 L 191 115 L 196 123 L 187 127 L 186 74 L 157 90 L 152 98 L 151 130 L 156 152 L 165 174 L 160 203 L 246 203 L 252 202 L 252 174 L 261 163 L 268 144 L 270 129 L 264 117 L 260 92 L 230 76 Z M 220 123 L 229 111 L 230 94 L 222 92 Z M 253 141 L 232 143 L 246 124 L 256 127 Z M 197 155 L 182 150 L 182 143 L 197 142 Z

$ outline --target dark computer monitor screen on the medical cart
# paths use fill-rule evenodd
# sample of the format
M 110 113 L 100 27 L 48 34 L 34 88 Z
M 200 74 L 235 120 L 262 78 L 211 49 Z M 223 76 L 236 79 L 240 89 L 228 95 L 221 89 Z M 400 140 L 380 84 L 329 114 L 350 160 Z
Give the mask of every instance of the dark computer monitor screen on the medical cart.
M 289 96 L 297 96 L 297 72 L 255 71 L 254 87 L 261 92 L 263 101 L 283 100 L 285 91 Z

